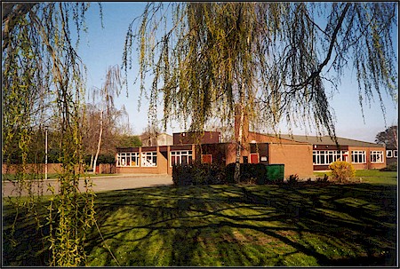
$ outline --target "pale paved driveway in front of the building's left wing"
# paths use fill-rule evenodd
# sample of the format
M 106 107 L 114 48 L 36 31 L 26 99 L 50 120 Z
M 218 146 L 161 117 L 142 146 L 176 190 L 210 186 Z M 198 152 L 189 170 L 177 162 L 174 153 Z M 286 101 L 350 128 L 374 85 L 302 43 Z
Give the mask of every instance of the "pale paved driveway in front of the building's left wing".
M 92 178 L 94 192 L 104 192 L 112 190 L 123 190 L 146 186 L 165 186 L 172 185 L 172 176 L 163 175 L 149 175 L 149 174 L 130 174 L 108 177 Z M 56 179 L 44 180 L 43 184 L 34 184 L 34 190 L 43 187 L 44 194 L 52 194 L 47 190 L 51 185 L 58 192 L 59 186 Z M 80 180 L 79 188 L 84 191 L 84 180 Z M 3 197 L 17 195 L 16 187 L 12 182 L 3 182 L 2 187 Z

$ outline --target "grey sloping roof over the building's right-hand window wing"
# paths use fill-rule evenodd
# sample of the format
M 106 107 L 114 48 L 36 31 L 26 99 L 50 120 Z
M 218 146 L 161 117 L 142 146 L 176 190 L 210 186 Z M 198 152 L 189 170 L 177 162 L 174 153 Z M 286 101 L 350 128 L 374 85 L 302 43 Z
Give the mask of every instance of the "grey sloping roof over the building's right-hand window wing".
M 300 136 L 300 135 L 280 135 L 280 137 L 286 139 L 293 139 L 294 141 L 298 142 L 308 142 L 313 145 L 331 145 L 331 146 L 336 145 L 335 142 L 332 140 L 332 138 L 329 136 L 315 137 L 315 136 Z M 381 144 L 375 144 L 354 139 L 339 138 L 339 137 L 337 137 L 337 139 L 340 146 L 384 147 L 384 145 Z

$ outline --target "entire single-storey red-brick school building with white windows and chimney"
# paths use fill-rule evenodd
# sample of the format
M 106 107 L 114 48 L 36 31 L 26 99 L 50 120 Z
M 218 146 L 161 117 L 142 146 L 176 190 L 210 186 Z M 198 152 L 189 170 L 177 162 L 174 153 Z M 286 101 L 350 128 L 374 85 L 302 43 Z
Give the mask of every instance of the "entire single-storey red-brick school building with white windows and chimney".
M 172 174 L 172 165 L 205 162 L 228 165 L 236 162 L 239 116 L 235 118 L 235 141 L 221 143 L 219 131 L 180 132 L 172 135 L 172 145 L 116 148 L 116 173 Z M 348 138 L 261 134 L 249 131 L 244 118 L 240 162 L 284 164 L 284 177 L 300 178 L 314 171 L 328 170 L 331 162 L 351 162 L 356 170 L 386 167 L 385 146 Z

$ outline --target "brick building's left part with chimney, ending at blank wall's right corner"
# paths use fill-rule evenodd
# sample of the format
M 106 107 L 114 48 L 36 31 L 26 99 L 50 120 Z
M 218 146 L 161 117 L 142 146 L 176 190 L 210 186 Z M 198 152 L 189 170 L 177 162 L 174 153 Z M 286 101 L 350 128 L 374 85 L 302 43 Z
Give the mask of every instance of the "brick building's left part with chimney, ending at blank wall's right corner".
M 310 143 L 250 132 L 245 119 L 241 145 L 242 163 L 284 164 L 285 177 L 308 177 L 313 173 Z M 221 143 L 218 131 L 174 133 L 172 146 L 117 148 L 116 173 L 172 174 L 173 164 L 194 161 L 225 166 L 236 162 L 236 146 L 236 142 Z

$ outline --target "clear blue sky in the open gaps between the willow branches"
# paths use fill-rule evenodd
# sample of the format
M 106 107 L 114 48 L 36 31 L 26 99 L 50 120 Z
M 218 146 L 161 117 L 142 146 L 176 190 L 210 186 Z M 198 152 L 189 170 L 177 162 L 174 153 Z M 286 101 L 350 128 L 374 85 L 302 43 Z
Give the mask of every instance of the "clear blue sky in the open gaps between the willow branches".
M 140 2 L 105 2 L 103 7 L 103 25 L 101 28 L 100 12 L 97 4 L 92 3 L 86 16 L 87 34 L 81 36 L 78 54 L 87 67 L 87 89 L 100 88 L 104 83 L 108 67 L 122 65 L 125 35 L 129 24 L 144 10 L 145 3 Z M 397 31 L 395 30 L 397 35 Z M 397 36 L 394 38 L 396 55 L 398 55 Z M 140 134 L 148 125 L 148 100 L 141 99 L 138 111 L 139 84 L 133 84 L 138 74 L 137 51 L 132 51 L 132 69 L 128 73 L 128 96 L 125 88 L 116 99 L 116 107 L 123 105 L 129 115 L 129 123 L 134 134 Z M 332 94 L 331 107 L 336 116 L 336 135 L 342 138 L 352 138 L 374 142 L 375 136 L 387 127 L 397 124 L 398 104 L 386 93 L 383 93 L 383 103 L 386 107 L 386 125 L 376 94 L 371 106 L 364 104 L 364 118 L 358 102 L 358 86 L 355 72 L 349 69 L 341 80 L 339 92 Z M 329 87 L 327 87 L 329 91 Z M 161 103 L 160 103 L 161 104 Z M 160 106 L 161 107 L 161 106 Z M 159 119 L 161 119 L 159 116 Z M 286 126 L 279 126 L 282 133 L 287 132 Z M 179 124 L 168 126 L 166 132 L 184 131 Z M 293 129 L 293 134 L 305 135 L 304 129 Z M 308 131 L 308 135 L 316 135 L 315 131 Z

